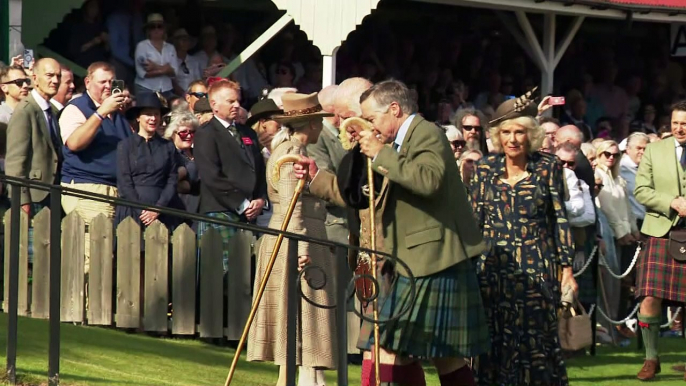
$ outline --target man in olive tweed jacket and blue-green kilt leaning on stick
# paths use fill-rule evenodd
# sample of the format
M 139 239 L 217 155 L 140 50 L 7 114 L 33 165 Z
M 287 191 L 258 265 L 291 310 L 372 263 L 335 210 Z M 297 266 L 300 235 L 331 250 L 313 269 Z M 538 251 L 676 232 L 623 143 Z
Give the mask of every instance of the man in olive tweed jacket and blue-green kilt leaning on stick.
M 473 385 L 464 358 L 486 352 L 490 344 L 470 260 L 483 251 L 484 244 L 450 144 L 441 128 L 417 115 L 416 102 L 401 82 L 378 83 L 362 94 L 360 102 L 362 117 L 374 130 L 358 134 L 359 149 L 373 159 L 374 171 L 384 177 L 377 214 L 383 230 L 381 244 L 416 277 L 416 297 L 412 298 L 407 272 L 395 269 L 397 264 L 394 268 L 384 263 L 384 271 L 393 271 L 393 282 L 380 291 L 379 319 L 388 320 L 406 308 L 409 312 L 380 325 L 381 359 L 386 355 L 407 362 L 428 359 L 441 385 Z M 356 188 L 341 183 L 333 173 L 318 170 L 309 158 L 303 157 L 295 169 L 300 178 L 311 179 L 310 192 L 325 200 L 346 203 L 347 192 Z M 361 166 L 355 172 L 366 170 Z M 371 323 L 364 322 L 361 337 L 367 339 L 361 339 L 360 349 L 372 349 L 372 331 Z M 381 375 L 393 371 L 382 369 Z M 413 385 L 399 377 L 391 384 Z

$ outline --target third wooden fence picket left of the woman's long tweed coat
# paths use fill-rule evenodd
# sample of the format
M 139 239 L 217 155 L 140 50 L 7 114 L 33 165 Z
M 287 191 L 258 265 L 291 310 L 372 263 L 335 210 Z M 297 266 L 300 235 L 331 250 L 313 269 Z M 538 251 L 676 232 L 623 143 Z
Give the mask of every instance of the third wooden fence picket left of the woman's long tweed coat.
M 172 237 L 172 334 L 195 334 L 195 296 L 198 252 L 195 232 L 180 225 Z

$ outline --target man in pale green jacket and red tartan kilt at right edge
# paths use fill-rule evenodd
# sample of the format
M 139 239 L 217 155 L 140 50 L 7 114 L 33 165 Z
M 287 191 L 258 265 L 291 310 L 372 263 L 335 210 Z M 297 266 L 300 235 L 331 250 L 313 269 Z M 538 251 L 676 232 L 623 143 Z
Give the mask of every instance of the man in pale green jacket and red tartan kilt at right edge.
M 686 222 L 686 101 L 672 106 L 672 138 L 649 144 L 636 174 L 636 200 L 646 208 L 641 232 L 649 236 L 636 268 L 636 296 L 646 359 L 638 379 L 660 373 L 657 340 L 662 305 L 686 302 L 686 263 L 669 253 L 670 234 Z M 684 371 L 684 366 L 675 366 Z M 686 380 L 686 375 L 684 376 Z

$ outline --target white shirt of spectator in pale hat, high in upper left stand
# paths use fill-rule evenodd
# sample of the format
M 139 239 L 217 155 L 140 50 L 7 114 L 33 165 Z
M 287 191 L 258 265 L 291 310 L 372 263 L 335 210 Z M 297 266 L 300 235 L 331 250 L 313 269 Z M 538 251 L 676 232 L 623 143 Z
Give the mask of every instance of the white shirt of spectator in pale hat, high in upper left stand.
M 172 69 L 174 69 L 174 73 L 178 74 L 179 62 L 176 58 L 176 48 L 174 48 L 173 45 L 164 42 L 164 45 L 162 46 L 162 52 L 160 52 L 157 51 L 157 48 L 155 48 L 152 45 L 150 39 L 145 39 L 142 42 L 138 43 L 138 45 L 136 46 L 136 54 L 134 55 L 134 57 L 136 58 L 137 85 L 145 87 L 151 91 L 164 92 L 171 91 L 173 89 L 171 83 L 172 77 L 164 75 L 155 78 L 146 78 L 146 71 L 143 67 L 145 62 L 149 60 L 161 66 L 169 64 L 172 67 Z

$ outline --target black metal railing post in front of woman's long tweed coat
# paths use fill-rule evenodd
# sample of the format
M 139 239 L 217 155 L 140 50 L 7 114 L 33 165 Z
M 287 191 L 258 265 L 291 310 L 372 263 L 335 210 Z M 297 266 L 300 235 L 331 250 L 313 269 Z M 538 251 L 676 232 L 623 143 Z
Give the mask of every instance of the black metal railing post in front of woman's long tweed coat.
M 296 286 L 298 280 L 298 241 L 288 240 L 288 313 L 286 315 L 286 386 L 295 386 L 296 355 L 297 355 L 297 322 L 298 306 L 301 302 Z

